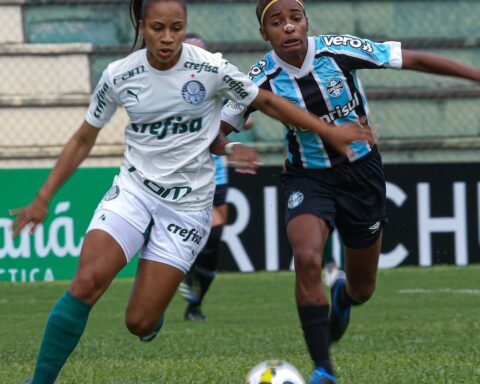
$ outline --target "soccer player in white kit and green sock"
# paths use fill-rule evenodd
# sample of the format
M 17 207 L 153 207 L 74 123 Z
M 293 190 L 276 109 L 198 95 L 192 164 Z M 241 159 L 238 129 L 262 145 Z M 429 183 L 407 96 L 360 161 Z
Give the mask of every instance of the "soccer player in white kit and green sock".
M 94 213 L 69 289 L 50 313 L 34 384 L 56 380 L 92 306 L 139 250 L 126 325 L 144 341 L 160 330 L 163 313 L 209 234 L 215 190 L 210 148 L 251 167 L 256 160 L 255 152 L 219 134 L 222 98 L 315 131 L 339 151 L 352 140 L 371 139 L 371 132 L 357 124 L 332 128 L 259 90 L 220 54 L 184 44 L 184 1 L 131 0 L 130 11 L 135 41 L 140 34 L 143 49 L 108 66 L 85 121 L 37 196 L 11 212 L 14 236 L 28 224 L 33 231 L 47 215 L 53 194 L 89 154 L 100 128 L 118 106 L 125 108 L 131 120 L 125 128 L 125 160 Z

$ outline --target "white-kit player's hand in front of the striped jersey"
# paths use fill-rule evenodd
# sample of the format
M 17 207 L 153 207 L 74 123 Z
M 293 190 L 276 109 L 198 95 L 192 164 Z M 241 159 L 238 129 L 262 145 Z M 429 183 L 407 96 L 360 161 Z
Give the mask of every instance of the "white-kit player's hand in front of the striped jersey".
M 324 138 L 337 152 L 347 156 L 351 152 L 349 144 L 353 141 L 367 141 L 370 146 L 377 141 L 374 128 L 356 122 L 331 126 L 331 130 L 324 135 Z

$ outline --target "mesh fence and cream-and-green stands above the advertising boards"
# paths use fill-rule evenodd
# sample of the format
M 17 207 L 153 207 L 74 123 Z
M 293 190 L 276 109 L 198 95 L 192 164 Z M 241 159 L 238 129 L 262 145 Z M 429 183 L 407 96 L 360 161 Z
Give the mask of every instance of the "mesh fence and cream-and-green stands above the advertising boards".
M 0 166 L 51 163 L 83 120 L 102 70 L 128 54 L 128 0 L 0 0 Z M 247 71 L 268 51 L 255 1 L 187 1 L 188 29 Z M 310 33 L 400 40 L 480 67 L 480 1 L 306 1 Z M 387 161 L 480 160 L 478 84 L 409 71 L 361 71 Z M 127 117 L 104 128 L 92 164 L 117 161 Z M 237 140 L 282 158 L 283 130 L 261 114 Z M 267 160 L 268 162 L 268 160 Z

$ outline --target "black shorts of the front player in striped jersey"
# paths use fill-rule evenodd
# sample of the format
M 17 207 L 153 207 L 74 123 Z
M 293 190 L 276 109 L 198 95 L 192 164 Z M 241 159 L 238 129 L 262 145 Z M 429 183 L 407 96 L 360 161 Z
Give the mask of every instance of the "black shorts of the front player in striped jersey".
M 326 169 L 286 166 L 281 177 L 286 200 L 286 224 L 298 215 L 312 214 L 338 229 L 349 248 L 374 244 L 386 221 L 386 186 L 382 159 L 376 147 L 354 163 Z

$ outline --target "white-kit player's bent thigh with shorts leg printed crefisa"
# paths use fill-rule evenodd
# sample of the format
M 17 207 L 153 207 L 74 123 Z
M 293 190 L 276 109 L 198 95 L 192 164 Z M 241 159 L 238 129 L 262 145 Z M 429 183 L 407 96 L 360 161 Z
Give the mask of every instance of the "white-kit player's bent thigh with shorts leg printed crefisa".
M 184 212 L 158 204 L 148 243 L 140 255 L 127 309 L 129 321 L 154 322 L 165 311 L 185 273 L 205 246 L 211 215 L 211 207 Z

